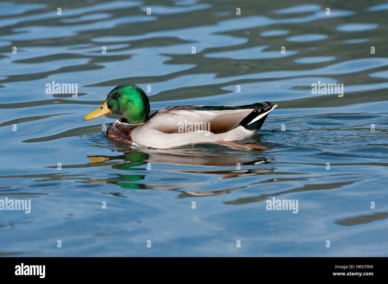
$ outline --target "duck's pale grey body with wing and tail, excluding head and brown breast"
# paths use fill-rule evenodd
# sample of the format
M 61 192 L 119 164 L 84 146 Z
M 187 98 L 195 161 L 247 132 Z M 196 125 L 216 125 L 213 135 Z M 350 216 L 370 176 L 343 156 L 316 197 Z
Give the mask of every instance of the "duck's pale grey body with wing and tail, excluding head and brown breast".
M 159 110 L 131 131 L 131 140 L 152 148 L 235 141 L 251 137 L 275 106 L 176 106 Z

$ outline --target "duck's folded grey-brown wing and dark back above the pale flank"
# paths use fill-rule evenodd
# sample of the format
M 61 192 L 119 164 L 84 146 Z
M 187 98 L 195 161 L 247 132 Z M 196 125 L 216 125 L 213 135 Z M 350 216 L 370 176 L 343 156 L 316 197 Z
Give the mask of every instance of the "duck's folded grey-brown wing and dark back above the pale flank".
M 266 102 L 267 103 L 267 102 Z M 182 124 L 210 123 L 210 131 L 214 134 L 232 130 L 249 114 L 256 110 L 272 107 L 272 103 L 253 105 L 181 105 L 167 107 L 152 114 L 140 127 L 156 129 L 165 134 L 180 133 Z M 272 110 L 272 109 L 271 109 Z M 261 114 L 250 115 L 252 121 Z M 251 121 L 250 120 L 250 121 Z

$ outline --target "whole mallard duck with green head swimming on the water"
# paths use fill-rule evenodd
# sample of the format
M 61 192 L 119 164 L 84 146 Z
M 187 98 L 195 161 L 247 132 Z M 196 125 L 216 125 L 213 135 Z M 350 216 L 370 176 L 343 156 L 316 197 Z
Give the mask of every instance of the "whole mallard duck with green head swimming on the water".
M 149 100 L 144 91 L 137 85 L 123 84 L 110 91 L 105 103 L 84 120 L 120 114 L 122 118 L 106 129 L 106 137 L 152 148 L 206 142 L 234 144 L 229 141 L 255 135 L 275 107 L 272 102 L 179 105 L 149 115 Z

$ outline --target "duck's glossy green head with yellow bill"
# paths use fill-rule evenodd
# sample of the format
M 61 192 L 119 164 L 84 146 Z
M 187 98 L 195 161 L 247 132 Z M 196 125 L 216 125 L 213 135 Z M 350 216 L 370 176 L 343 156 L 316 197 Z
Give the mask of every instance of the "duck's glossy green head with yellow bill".
M 145 122 L 149 115 L 149 100 L 144 91 L 134 84 L 123 84 L 109 92 L 105 103 L 84 117 L 95 119 L 106 114 L 120 114 L 121 122 L 136 124 Z

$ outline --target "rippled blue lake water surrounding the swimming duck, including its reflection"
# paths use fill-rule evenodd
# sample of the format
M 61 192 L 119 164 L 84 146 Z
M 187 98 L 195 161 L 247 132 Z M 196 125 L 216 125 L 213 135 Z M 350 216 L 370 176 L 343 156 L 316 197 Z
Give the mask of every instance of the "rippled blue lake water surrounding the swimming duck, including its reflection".
M 388 3 L 367 3 L 0 2 L 0 199 L 31 200 L 0 211 L 0 255 L 388 256 Z M 239 142 L 268 149 L 107 139 L 118 115 L 83 117 L 123 83 L 152 111 L 271 100 Z

